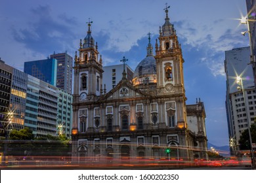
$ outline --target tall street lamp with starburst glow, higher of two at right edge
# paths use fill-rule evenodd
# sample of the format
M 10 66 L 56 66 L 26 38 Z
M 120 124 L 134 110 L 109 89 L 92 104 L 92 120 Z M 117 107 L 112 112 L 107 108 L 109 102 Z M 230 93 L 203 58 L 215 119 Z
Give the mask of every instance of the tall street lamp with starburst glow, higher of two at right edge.
M 251 67 L 253 67 L 254 86 L 255 86 L 255 90 L 256 90 L 256 68 L 255 68 L 256 60 L 255 60 L 255 56 L 253 54 L 253 42 L 251 40 L 251 31 L 250 31 L 250 27 L 249 27 L 249 21 L 253 21 L 253 20 L 249 20 L 246 17 L 242 17 L 240 19 L 241 24 L 246 24 L 247 25 L 247 31 L 243 31 L 241 33 L 244 36 L 245 36 L 246 33 L 248 33 L 248 35 L 249 35 L 249 46 L 250 46 L 250 50 L 251 50 L 251 55 L 250 55 L 250 62 L 248 64 L 251 64 Z

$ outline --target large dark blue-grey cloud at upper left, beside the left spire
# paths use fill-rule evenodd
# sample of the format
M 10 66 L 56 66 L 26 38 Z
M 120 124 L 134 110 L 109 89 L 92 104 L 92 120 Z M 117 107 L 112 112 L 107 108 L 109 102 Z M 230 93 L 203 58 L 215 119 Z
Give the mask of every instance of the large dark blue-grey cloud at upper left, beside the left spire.
M 31 13 L 33 22 L 28 22 L 28 27 L 25 29 L 12 27 L 12 36 L 15 41 L 24 44 L 26 48 L 34 52 L 46 55 L 49 54 L 49 50 L 57 52 L 67 49 L 74 50 L 70 45 L 70 40 L 75 39 L 72 26 L 77 23 L 73 21 L 74 18 L 68 18 L 65 14 L 61 14 L 58 19 L 54 20 L 49 5 L 39 5 L 33 8 Z

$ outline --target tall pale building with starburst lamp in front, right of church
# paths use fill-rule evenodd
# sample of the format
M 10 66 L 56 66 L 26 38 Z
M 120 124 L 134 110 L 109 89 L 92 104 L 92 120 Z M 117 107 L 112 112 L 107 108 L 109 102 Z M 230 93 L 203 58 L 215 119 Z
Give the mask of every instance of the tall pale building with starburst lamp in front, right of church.
M 231 151 L 239 150 L 238 141 L 248 123 L 256 116 L 256 95 L 253 71 L 249 63 L 250 47 L 234 48 L 225 52 L 226 115 Z M 242 83 L 237 83 L 238 76 Z M 238 85 L 239 84 L 239 85 Z

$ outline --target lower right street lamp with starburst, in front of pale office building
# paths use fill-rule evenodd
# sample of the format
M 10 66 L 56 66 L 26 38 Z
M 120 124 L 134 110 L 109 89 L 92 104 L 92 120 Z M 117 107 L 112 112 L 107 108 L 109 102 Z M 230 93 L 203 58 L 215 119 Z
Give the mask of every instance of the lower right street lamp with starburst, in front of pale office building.
M 251 146 L 250 152 L 251 152 L 251 168 L 255 168 L 255 159 L 254 159 L 254 152 L 253 152 L 253 146 L 252 146 L 252 140 L 251 140 L 251 131 L 250 131 L 250 124 L 249 124 L 249 118 L 248 118 L 248 110 L 246 107 L 246 100 L 245 100 L 245 94 L 244 94 L 244 85 L 243 85 L 243 80 L 240 76 L 236 77 L 236 84 L 240 85 L 242 88 L 238 86 L 238 90 L 242 91 L 243 97 L 244 97 L 244 102 L 245 102 L 245 112 L 246 112 L 246 118 L 247 118 L 247 125 L 248 125 L 248 132 L 249 132 L 249 143 Z

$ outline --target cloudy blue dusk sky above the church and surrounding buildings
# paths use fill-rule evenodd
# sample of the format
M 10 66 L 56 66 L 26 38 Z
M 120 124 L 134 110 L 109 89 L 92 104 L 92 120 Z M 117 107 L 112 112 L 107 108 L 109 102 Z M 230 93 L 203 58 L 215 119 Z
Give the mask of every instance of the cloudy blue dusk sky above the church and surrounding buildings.
M 24 61 L 45 59 L 53 52 L 74 57 L 87 33 L 98 42 L 104 65 L 119 64 L 125 56 L 133 69 L 146 57 L 147 34 L 152 44 L 163 25 L 165 3 L 184 58 L 187 104 L 200 98 L 205 105 L 209 142 L 228 145 L 224 51 L 249 46 L 236 18 L 246 14 L 245 0 L 2 0 L 0 1 L 0 58 L 23 71 Z

